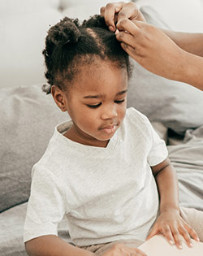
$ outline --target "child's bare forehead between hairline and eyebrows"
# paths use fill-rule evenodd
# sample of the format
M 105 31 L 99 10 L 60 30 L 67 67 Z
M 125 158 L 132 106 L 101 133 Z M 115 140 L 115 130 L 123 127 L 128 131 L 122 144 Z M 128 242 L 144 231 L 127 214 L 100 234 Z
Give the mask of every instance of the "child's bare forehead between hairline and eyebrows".
M 79 68 L 71 89 L 80 93 L 118 93 L 127 89 L 127 69 L 105 61 L 85 65 Z

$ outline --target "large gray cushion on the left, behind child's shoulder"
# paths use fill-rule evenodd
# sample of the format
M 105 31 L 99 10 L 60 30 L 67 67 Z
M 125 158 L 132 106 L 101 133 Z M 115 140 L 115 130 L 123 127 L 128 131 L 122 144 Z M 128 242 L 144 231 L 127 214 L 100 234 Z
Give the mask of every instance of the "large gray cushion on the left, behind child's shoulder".
M 32 165 L 45 152 L 54 126 L 67 120 L 41 85 L 0 89 L 0 212 L 26 202 Z

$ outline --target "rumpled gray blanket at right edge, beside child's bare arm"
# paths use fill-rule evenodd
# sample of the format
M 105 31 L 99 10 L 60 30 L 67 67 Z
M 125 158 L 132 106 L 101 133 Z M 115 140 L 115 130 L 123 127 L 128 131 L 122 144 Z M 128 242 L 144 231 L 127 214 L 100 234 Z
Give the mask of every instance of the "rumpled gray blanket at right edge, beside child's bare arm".
M 184 144 L 168 150 L 179 179 L 180 205 L 203 210 L 203 126 L 187 130 Z

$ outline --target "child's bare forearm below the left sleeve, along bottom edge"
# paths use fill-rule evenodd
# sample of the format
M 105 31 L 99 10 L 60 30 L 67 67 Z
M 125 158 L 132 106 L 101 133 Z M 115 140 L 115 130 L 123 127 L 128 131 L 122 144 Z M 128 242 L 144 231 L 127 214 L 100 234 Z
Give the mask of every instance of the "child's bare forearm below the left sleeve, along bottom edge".
M 93 256 L 95 254 L 70 245 L 58 236 L 40 236 L 25 243 L 30 256 Z

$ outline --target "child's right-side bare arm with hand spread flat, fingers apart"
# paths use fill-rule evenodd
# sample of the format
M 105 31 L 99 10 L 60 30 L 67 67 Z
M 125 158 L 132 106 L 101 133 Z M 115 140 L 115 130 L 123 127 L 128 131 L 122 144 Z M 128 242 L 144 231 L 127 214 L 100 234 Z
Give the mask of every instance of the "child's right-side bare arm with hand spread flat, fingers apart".
M 181 236 L 188 246 L 192 246 L 190 236 L 199 241 L 197 233 L 179 215 L 179 189 L 175 169 L 168 158 L 152 167 L 153 175 L 158 184 L 160 196 L 160 214 L 149 233 L 148 239 L 161 232 L 171 243 L 182 248 Z

